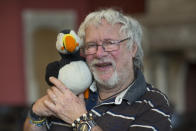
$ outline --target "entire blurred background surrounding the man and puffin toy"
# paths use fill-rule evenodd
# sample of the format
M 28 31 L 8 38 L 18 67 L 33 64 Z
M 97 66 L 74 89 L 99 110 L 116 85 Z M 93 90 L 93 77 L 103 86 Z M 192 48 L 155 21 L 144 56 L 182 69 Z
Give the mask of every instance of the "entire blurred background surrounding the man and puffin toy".
M 86 14 L 102 7 L 141 22 L 147 81 L 168 95 L 176 130 L 178 123 L 195 129 L 195 0 L 1 0 L 0 131 L 22 130 L 28 106 L 44 95 L 46 65 L 59 59 L 57 33 L 77 30 Z

